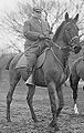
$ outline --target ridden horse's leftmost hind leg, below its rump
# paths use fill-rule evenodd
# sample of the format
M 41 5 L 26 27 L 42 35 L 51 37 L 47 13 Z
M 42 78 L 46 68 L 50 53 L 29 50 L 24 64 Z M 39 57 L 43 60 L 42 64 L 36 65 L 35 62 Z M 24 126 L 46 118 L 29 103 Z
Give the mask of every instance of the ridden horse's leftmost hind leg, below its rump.
M 7 121 L 10 122 L 10 104 L 12 102 L 12 95 L 13 95 L 13 91 L 15 89 L 17 83 L 19 82 L 21 75 L 19 72 L 17 72 L 15 70 L 9 70 L 9 83 L 10 83 L 10 90 L 8 92 L 7 95 Z

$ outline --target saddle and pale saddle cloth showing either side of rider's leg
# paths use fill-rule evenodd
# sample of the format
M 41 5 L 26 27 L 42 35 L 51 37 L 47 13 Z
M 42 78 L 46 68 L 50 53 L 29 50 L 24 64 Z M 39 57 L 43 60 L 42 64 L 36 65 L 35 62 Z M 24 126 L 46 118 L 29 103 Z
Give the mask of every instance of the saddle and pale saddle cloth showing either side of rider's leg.
M 38 58 L 38 61 L 36 61 L 36 69 L 39 69 L 40 66 L 42 66 L 42 64 L 44 63 L 45 61 L 45 54 L 46 54 L 46 50 L 49 48 L 46 48 L 44 50 L 44 52 Z M 15 68 L 23 68 L 23 66 L 27 66 L 27 58 L 24 54 L 22 54 L 15 65 Z

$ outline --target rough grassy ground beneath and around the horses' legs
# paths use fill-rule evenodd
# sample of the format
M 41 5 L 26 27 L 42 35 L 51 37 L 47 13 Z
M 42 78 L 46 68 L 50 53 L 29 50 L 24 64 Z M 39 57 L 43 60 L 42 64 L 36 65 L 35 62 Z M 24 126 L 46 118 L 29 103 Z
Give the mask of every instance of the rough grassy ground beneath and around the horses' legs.
M 39 122 L 35 124 L 31 119 L 31 113 L 27 103 L 28 88 L 21 80 L 18 84 L 13 101 L 11 103 L 11 120 L 8 123 L 7 114 L 7 93 L 9 90 L 9 79 L 3 74 L 0 82 L 0 133 L 54 133 L 48 125 L 52 120 L 48 90 L 36 88 L 33 106 Z M 56 133 L 84 133 L 84 92 L 78 89 L 78 111 L 80 115 L 74 114 L 72 90 L 70 86 L 63 88 L 64 108 L 57 119 L 60 131 Z M 57 103 L 57 98 L 56 98 Z

